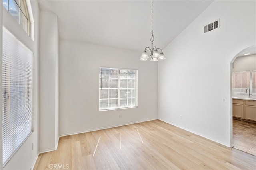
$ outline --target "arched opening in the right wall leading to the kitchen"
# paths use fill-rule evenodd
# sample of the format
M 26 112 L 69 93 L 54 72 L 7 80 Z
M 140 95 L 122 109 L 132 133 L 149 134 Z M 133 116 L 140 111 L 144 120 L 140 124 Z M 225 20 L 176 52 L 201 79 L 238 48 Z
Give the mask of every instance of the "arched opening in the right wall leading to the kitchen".
M 233 147 L 256 156 L 256 45 L 231 62 Z

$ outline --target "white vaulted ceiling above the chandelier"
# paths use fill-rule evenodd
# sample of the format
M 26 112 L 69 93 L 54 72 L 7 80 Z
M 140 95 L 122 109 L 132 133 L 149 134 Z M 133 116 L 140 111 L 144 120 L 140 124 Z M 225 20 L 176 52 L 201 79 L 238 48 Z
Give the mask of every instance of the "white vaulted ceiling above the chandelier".
M 58 17 L 60 39 L 143 51 L 150 46 L 151 0 L 39 0 Z M 154 0 L 154 46 L 165 48 L 213 1 Z M 202 27 L 203 31 L 203 27 Z

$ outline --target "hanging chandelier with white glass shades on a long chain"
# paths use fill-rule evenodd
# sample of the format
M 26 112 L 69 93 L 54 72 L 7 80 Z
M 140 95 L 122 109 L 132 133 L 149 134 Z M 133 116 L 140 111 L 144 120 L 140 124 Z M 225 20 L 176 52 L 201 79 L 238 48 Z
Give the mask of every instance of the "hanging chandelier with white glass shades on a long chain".
M 145 50 L 143 51 L 141 57 L 140 57 L 140 61 L 146 61 L 148 60 L 148 53 L 147 50 L 150 51 L 150 57 L 151 60 L 150 61 L 158 61 L 158 60 L 164 60 L 166 59 L 164 57 L 164 53 L 162 52 L 162 49 L 160 48 L 156 48 L 156 46 L 153 47 L 153 42 L 154 42 L 154 35 L 153 35 L 153 0 L 151 0 L 151 48 L 150 47 L 146 47 Z M 161 50 L 161 52 L 159 53 L 158 50 Z

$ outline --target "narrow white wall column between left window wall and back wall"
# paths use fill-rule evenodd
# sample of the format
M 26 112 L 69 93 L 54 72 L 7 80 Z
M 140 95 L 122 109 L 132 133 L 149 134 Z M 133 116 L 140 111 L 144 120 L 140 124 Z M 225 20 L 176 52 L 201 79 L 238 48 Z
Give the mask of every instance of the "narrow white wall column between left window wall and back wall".
M 39 152 L 58 144 L 58 25 L 56 14 L 40 10 Z

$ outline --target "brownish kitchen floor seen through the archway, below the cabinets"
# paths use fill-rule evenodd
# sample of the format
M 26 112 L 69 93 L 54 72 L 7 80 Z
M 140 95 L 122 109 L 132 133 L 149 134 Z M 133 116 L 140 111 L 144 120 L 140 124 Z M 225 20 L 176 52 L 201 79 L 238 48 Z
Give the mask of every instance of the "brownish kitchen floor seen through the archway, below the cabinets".
M 256 156 L 256 124 L 233 119 L 234 148 Z

